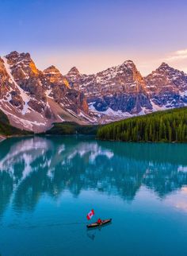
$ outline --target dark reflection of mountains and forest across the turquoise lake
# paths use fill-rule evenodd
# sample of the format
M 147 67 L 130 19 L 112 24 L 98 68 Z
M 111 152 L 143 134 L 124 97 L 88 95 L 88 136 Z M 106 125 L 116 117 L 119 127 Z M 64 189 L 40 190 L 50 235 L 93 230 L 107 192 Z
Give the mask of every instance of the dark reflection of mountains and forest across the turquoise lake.
M 187 184 L 187 145 L 98 142 L 84 137 L 12 138 L 0 149 L 0 215 L 32 211 L 40 196 L 94 190 L 131 201 L 144 185 L 162 199 Z

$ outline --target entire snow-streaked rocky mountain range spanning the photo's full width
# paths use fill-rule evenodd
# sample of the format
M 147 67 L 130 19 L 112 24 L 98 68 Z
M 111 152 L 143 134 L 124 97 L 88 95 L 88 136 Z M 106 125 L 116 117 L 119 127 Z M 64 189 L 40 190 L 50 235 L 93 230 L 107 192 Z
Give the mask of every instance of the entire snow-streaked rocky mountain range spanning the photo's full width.
M 162 63 L 143 77 L 132 60 L 97 74 L 36 68 L 29 53 L 0 57 L 0 110 L 10 124 L 35 133 L 54 122 L 80 125 L 187 106 L 187 74 Z

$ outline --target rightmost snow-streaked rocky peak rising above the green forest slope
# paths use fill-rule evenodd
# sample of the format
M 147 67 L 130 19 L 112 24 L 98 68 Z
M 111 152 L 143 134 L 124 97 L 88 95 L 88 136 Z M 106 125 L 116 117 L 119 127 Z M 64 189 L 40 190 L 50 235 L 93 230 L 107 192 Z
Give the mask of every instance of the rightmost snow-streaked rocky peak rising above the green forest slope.
M 187 75 L 184 72 L 162 63 L 145 81 L 156 108 L 184 107 L 187 103 Z

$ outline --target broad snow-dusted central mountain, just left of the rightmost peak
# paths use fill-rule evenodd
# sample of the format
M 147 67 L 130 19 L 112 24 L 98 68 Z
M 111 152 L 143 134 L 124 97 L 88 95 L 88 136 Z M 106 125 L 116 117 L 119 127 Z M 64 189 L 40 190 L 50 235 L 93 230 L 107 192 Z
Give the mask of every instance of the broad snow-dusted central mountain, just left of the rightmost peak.
M 145 80 L 131 60 L 96 75 L 80 75 L 75 68 L 73 71 L 67 73 L 71 86 L 83 91 L 96 111 L 137 114 L 152 109 Z

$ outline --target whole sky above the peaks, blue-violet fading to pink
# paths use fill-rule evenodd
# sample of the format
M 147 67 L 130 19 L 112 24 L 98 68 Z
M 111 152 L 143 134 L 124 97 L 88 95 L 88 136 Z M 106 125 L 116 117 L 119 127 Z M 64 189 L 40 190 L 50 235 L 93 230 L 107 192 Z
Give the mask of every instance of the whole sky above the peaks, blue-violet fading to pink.
M 0 0 L 0 55 L 30 52 L 93 73 L 131 59 L 143 75 L 162 61 L 187 72 L 187 1 Z

